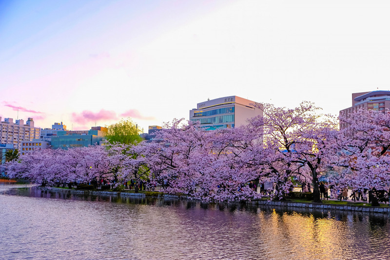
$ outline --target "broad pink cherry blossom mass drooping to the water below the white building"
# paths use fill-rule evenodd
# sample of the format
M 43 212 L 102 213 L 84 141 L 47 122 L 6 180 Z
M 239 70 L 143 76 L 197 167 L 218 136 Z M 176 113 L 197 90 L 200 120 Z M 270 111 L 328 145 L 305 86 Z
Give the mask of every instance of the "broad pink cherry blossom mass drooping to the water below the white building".
M 261 138 L 261 135 L 260 135 Z M 242 128 L 203 131 L 189 121 L 174 120 L 144 145 L 150 175 L 164 191 L 203 201 L 247 199 L 258 194 L 246 182 L 254 167 L 243 151 L 261 139 Z

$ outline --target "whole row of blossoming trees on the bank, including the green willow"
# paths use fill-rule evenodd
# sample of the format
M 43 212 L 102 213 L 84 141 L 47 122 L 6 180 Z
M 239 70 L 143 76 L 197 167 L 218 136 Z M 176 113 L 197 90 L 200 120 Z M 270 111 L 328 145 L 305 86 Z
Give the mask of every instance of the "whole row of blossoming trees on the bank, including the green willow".
M 321 116 L 310 102 L 262 109 L 263 117 L 232 129 L 203 131 L 174 120 L 153 142 L 138 142 L 137 126 L 122 120 L 109 127 L 113 143 L 107 147 L 35 151 L 8 162 L 7 171 L 49 184 L 142 180 L 203 201 L 282 199 L 300 181 L 312 184 L 313 200 L 320 202 L 320 178 L 336 191 L 389 190 L 389 111 L 340 116 L 344 127 L 337 130 L 334 118 Z M 258 182 L 274 183 L 275 192 L 258 193 Z

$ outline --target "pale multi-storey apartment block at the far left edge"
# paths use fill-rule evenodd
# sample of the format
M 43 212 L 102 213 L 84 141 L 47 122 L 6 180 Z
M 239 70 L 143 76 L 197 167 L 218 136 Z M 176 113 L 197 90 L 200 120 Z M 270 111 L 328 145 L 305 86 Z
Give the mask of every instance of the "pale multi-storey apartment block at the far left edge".
M 28 118 L 26 124 L 24 120 L 16 120 L 6 118 L 1 121 L 0 117 L 0 143 L 13 144 L 15 149 L 21 150 L 22 141 L 31 141 L 38 139 L 40 128 L 34 127 L 34 120 Z

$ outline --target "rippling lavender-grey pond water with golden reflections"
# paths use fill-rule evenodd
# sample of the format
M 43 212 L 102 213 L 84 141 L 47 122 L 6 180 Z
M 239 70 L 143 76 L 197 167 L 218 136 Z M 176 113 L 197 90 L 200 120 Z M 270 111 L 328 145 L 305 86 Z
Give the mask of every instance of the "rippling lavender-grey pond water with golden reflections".
M 390 259 L 384 214 L 281 212 L 16 186 L 0 185 L 1 259 Z

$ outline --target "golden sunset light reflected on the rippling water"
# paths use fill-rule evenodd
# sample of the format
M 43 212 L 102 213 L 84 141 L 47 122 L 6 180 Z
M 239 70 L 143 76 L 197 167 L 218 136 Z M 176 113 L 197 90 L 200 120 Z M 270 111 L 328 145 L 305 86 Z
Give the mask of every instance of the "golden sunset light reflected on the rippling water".
M 315 218 L 312 214 L 305 216 L 296 212 L 277 212 L 275 209 L 268 216 L 259 212 L 258 220 L 263 231 L 258 239 L 268 246 L 272 245 L 273 252 L 288 250 L 302 259 L 313 256 L 315 259 L 334 259 L 345 254 L 346 244 L 347 247 L 356 246 L 356 241 L 351 240 L 350 236 L 353 235 L 348 226 L 354 222 L 352 220 L 340 221 L 323 216 Z M 363 244 L 364 240 L 361 242 Z

